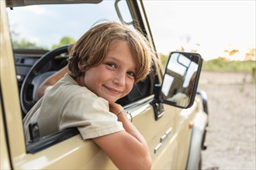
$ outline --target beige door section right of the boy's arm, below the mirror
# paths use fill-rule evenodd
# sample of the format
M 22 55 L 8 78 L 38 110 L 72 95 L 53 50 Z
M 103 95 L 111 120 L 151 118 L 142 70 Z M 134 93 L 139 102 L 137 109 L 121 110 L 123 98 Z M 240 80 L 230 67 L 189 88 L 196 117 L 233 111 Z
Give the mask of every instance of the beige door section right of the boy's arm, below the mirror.
M 141 110 L 143 107 L 144 110 Z M 164 114 L 157 121 L 155 121 L 154 110 L 149 102 L 130 109 L 130 112 L 135 114 L 137 110 L 140 110 L 140 114 L 133 117 L 133 124 L 147 141 L 152 158 L 152 168 L 175 168 L 178 141 L 174 134 L 178 110 L 165 105 Z

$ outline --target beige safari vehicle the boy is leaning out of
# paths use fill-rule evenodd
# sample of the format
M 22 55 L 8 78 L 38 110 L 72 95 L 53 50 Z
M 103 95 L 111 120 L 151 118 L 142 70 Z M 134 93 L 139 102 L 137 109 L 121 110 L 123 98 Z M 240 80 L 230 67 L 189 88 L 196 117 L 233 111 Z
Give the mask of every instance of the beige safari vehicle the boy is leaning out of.
M 143 2 L 6 0 L 0 3 L 0 168 L 115 169 L 116 166 L 93 141 L 82 140 L 76 128 L 38 138 L 36 127 L 31 126 L 33 140 L 26 145 L 22 118 L 38 100 L 38 85 L 67 64 L 67 46 L 22 49 L 17 48 L 15 36 L 24 31 L 19 36 L 31 39 L 35 36 L 35 27 L 40 25 L 43 27 L 40 34 L 49 43 L 58 39 L 56 35 L 63 29 L 64 35 L 77 33 L 78 36 L 73 37 L 77 39 L 95 22 L 109 19 L 139 29 L 154 48 Z M 19 23 L 13 24 L 12 19 Z M 29 27 L 25 27 L 26 24 Z M 43 42 L 43 39 L 38 42 Z M 204 141 L 208 124 L 206 93 L 197 90 L 202 59 L 196 53 L 176 52 L 171 53 L 166 65 L 165 71 L 154 67 L 157 74 L 150 73 L 147 80 L 137 83 L 131 93 L 118 102 L 130 111 L 133 124 L 144 135 L 150 149 L 152 169 L 199 169 L 201 151 L 206 148 Z M 171 100 L 189 87 L 189 80 L 195 72 L 187 102 L 183 105 Z

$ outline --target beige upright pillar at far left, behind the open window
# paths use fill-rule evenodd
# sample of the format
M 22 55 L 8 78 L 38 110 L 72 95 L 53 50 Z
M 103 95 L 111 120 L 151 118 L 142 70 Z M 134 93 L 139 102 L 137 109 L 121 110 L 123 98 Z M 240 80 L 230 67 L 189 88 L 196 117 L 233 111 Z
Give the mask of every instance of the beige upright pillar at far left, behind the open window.
M 1 98 L 2 108 L 5 114 L 6 131 L 9 138 L 10 155 L 12 158 L 21 155 L 26 151 L 24 135 L 22 131 L 22 117 L 19 106 L 19 92 L 17 88 L 15 64 L 12 54 L 9 26 L 5 12 L 5 2 L 1 1 Z M 19 144 L 17 144 L 17 138 Z

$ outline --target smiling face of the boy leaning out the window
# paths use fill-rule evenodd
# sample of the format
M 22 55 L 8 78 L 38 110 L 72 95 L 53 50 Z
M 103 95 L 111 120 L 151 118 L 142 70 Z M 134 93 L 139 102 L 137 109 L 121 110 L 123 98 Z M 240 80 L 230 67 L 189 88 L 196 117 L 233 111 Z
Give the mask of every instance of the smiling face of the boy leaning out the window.
M 103 62 L 85 71 L 83 83 L 112 104 L 132 90 L 135 70 L 136 62 L 129 44 L 113 40 Z

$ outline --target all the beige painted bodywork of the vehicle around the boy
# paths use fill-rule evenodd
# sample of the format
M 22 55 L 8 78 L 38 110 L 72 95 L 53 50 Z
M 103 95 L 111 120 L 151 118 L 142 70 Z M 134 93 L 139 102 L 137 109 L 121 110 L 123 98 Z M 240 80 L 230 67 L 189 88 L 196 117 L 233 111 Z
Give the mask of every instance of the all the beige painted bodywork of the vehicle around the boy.
M 150 28 L 141 2 L 128 1 L 133 18 L 143 22 L 144 31 L 151 40 Z M 36 153 L 28 153 L 22 126 L 19 90 L 5 1 L 1 3 L 1 169 L 99 169 L 116 168 L 108 156 L 91 140 L 82 140 L 80 134 Z M 137 15 L 136 15 L 137 14 Z M 157 70 L 159 83 L 162 72 Z M 187 109 L 164 104 L 164 114 L 155 119 L 150 101 L 154 95 L 126 107 L 133 115 L 133 124 L 144 136 L 150 149 L 153 169 L 185 169 L 189 159 L 192 137 L 191 123 L 199 113 L 200 100 Z M 196 126 L 200 125 L 196 124 Z M 203 126 L 201 128 L 204 128 Z M 193 141 L 194 142 L 194 141 Z M 198 151 L 198 150 L 197 150 Z M 192 154 L 192 153 L 190 153 Z

